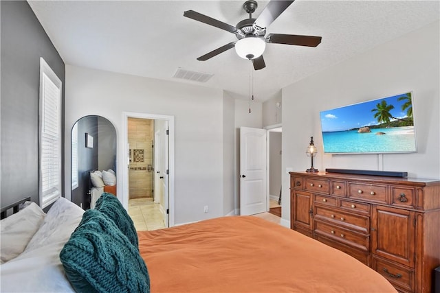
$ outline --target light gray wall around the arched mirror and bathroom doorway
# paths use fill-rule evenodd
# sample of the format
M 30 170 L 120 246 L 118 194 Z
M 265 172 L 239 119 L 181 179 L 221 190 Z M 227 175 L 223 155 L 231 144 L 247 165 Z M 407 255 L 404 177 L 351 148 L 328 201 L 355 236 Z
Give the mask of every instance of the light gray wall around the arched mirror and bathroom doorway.
M 174 116 L 175 224 L 223 215 L 223 91 L 71 65 L 66 76 L 66 131 L 85 115 L 109 119 L 118 136 L 118 178 L 124 162 L 122 113 Z M 70 137 L 65 143 L 70 145 Z M 69 149 L 65 157 L 69 162 Z M 69 163 L 65 174 L 69 178 Z M 118 180 L 118 198 L 123 191 Z M 206 205 L 209 213 L 203 212 Z

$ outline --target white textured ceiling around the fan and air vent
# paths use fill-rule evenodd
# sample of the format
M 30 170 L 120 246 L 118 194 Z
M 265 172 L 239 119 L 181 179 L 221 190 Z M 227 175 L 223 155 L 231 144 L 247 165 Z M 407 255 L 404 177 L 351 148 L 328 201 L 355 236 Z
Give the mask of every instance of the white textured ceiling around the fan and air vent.
M 236 25 L 248 18 L 244 1 L 28 1 L 68 65 L 250 91 L 250 61 L 230 49 L 197 57 L 236 40 L 183 16 L 195 10 Z M 257 17 L 268 1 L 258 1 Z M 296 0 L 267 33 L 322 36 L 318 47 L 267 44 L 266 67 L 254 71 L 254 95 L 264 101 L 284 86 L 439 20 L 439 1 Z M 206 83 L 178 80 L 178 67 L 213 73 Z M 317 84 L 317 86 L 319 86 Z

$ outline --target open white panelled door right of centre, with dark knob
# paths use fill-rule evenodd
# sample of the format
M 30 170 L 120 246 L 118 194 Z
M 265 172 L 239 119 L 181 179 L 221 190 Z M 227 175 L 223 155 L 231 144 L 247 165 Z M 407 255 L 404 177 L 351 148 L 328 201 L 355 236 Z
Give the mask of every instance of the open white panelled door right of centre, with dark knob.
M 267 211 L 266 130 L 240 128 L 240 214 Z

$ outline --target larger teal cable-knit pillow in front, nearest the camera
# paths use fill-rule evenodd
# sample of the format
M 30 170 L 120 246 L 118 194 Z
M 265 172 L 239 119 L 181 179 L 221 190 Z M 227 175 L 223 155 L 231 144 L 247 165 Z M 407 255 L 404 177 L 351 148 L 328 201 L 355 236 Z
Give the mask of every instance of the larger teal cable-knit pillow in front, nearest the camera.
M 76 292 L 150 292 L 139 250 L 100 211 L 85 211 L 60 259 Z

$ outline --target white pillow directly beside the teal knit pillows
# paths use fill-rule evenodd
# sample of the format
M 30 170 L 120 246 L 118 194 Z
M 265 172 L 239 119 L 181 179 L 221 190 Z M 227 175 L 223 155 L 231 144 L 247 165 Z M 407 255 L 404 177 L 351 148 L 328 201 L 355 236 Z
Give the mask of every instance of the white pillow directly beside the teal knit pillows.
M 64 243 L 83 218 L 84 210 L 65 198 L 58 198 L 47 211 L 43 224 L 30 240 L 24 253 L 49 244 Z M 23 253 L 23 254 L 24 254 Z

